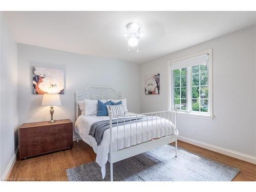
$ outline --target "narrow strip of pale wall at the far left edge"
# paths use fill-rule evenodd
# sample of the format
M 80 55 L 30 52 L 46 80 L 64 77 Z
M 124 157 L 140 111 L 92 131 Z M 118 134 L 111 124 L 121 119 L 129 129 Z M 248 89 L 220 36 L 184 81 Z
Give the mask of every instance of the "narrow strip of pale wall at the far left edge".
M 6 168 L 17 147 L 17 43 L 6 23 L 3 13 L 1 17 L 1 144 L 0 144 L 0 177 Z

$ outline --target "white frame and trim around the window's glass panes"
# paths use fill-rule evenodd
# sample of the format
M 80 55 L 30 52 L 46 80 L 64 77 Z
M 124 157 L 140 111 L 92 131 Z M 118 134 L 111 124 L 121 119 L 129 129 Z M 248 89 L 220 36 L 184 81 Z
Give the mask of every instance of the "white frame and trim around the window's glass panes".
M 174 91 L 174 80 L 173 80 L 173 73 L 170 70 L 170 66 L 174 63 L 184 61 L 187 59 L 193 59 L 202 55 L 208 54 L 208 112 L 196 112 L 191 111 L 191 78 L 187 78 L 187 110 L 186 111 L 178 111 L 179 115 L 188 115 L 198 118 L 206 118 L 206 119 L 213 119 L 213 94 L 212 94 L 212 49 L 208 49 L 205 51 L 201 51 L 195 54 L 190 54 L 184 57 L 180 57 L 177 59 L 172 59 L 168 62 L 168 109 L 174 109 L 174 98 L 173 98 L 173 91 Z M 188 68 L 190 69 L 190 68 Z M 190 70 L 187 70 L 187 73 L 191 73 Z M 188 94 L 190 93 L 190 94 Z

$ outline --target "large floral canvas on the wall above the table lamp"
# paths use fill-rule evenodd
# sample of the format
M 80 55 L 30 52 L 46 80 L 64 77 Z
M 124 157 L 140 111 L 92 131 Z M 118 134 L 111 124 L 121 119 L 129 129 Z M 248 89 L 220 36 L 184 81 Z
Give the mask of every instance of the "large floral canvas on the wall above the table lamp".
M 33 67 L 33 94 L 64 94 L 64 70 Z

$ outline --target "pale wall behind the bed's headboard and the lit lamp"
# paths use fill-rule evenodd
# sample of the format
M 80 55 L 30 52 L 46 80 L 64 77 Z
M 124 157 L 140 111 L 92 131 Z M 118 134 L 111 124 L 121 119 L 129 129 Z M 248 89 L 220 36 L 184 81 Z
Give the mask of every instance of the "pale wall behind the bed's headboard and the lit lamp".
M 41 106 L 42 95 L 32 94 L 32 66 L 65 69 L 66 89 L 60 95 L 62 105 L 55 107 L 55 119 L 74 121 L 74 93 L 89 86 L 122 91 L 129 111 L 140 112 L 138 64 L 18 44 L 19 124 L 50 118 L 49 107 Z

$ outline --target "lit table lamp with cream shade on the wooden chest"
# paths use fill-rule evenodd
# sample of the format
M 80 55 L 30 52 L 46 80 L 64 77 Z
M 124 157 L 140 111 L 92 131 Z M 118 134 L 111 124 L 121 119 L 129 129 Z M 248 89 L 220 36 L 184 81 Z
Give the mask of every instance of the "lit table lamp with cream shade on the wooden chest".
M 53 120 L 53 106 L 61 105 L 59 94 L 44 94 L 44 97 L 42 97 L 42 106 L 50 106 L 50 114 L 51 114 L 51 120 L 49 123 L 54 123 Z

